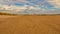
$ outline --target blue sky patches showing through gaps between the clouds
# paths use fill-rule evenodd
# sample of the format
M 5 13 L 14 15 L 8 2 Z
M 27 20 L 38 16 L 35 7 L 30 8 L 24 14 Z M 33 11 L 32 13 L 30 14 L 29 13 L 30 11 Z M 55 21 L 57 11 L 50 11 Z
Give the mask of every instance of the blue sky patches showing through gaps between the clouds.
M 42 7 L 42 8 L 52 8 L 53 7 L 53 5 L 51 5 L 50 3 L 48 3 L 47 1 L 45 1 L 45 0 L 34 0 L 33 2 L 32 2 L 32 0 L 26 0 L 26 1 L 28 1 L 28 2 L 30 2 L 30 3 L 33 3 L 33 4 L 37 4 L 38 2 L 42 2 L 43 3 L 43 7 L 42 6 L 40 6 L 40 7 Z M 28 4 L 28 3 L 26 3 L 26 4 Z M 23 6 L 24 4 L 20 4 L 20 3 L 16 3 L 15 4 L 16 6 Z M 29 4 L 28 4 L 29 5 Z

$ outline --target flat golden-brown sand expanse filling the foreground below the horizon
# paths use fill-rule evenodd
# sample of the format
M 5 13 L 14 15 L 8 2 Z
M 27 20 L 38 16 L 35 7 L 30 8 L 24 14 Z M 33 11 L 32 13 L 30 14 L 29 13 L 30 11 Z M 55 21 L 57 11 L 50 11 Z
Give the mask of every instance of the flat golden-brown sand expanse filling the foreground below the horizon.
M 60 16 L 1 16 L 0 34 L 60 34 Z

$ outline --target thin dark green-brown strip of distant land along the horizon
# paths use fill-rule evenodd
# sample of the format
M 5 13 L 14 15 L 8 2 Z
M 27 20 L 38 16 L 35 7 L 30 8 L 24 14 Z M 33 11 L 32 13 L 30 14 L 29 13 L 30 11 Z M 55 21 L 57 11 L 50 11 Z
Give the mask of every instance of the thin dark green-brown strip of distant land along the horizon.
M 60 14 L 9 14 L 9 13 L 0 13 L 0 15 L 11 15 L 11 16 L 60 16 Z

